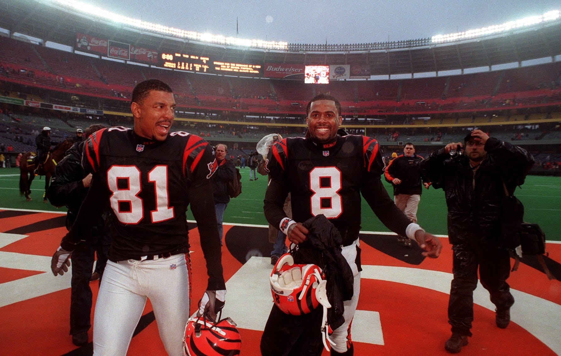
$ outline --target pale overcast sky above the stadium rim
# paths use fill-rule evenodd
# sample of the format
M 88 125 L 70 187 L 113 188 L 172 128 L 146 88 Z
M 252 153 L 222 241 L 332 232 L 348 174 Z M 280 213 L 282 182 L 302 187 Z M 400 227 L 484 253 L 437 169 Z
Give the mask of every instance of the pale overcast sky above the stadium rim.
M 244 39 L 288 43 L 367 43 L 425 38 L 561 10 L 559 0 L 80 0 L 105 10 Z

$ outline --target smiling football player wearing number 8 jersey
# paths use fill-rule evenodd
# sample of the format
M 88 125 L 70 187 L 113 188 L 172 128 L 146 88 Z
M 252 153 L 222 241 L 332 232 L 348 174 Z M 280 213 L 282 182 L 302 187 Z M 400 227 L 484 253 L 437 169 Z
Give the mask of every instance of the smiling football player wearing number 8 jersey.
M 271 181 L 265 194 L 265 217 L 295 244 L 307 239 L 309 230 L 302 223 L 320 214 L 341 233 L 342 255 L 353 271 L 354 292 L 352 299 L 344 302 L 343 325 L 330 336 L 335 343 L 331 354 L 352 355 L 351 321 L 360 293 L 361 193 L 381 222 L 393 232 L 414 239 L 424 249 L 423 256 L 438 257 L 442 245 L 434 235 L 407 219 L 389 197 L 380 179 L 384 161 L 378 142 L 365 136 L 337 135 L 342 122 L 337 99 L 320 94 L 310 101 L 306 112 L 306 138 L 285 138 L 269 151 L 266 167 Z M 288 192 L 292 196 L 293 220 L 283 211 Z M 306 342 L 295 340 L 290 335 L 292 327 L 317 330 L 321 337 L 319 324 L 303 326 L 295 321 L 295 316 L 286 315 L 273 305 L 261 339 L 261 353 L 321 354 L 321 340 L 318 342 L 315 335 Z M 316 345 L 315 350 L 310 350 L 311 345 Z M 306 349 L 296 349 L 299 347 Z

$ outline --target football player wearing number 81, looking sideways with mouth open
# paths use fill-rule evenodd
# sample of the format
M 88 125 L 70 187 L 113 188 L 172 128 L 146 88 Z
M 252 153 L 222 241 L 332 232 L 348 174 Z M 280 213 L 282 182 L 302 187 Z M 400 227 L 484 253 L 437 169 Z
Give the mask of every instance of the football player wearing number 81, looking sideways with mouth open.
M 188 205 L 209 275 L 197 313 L 215 317 L 224 306 L 226 285 L 209 179 L 217 164 L 202 138 L 169 132 L 175 106 L 167 84 L 143 81 L 132 93 L 134 129 L 100 130 L 85 144 L 82 165 L 93 174 L 90 191 L 54 253 L 51 269 L 54 275 L 68 270 L 80 232 L 110 206 L 113 240 L 95 306 L 95 355 L 126 355 L 146 298 L 166 352 L 183 355 L 191 279 Z

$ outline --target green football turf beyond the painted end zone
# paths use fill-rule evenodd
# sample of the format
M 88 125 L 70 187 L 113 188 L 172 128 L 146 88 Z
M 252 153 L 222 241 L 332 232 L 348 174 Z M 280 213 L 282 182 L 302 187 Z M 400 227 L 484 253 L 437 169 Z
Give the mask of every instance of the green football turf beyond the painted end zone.
M 249 180 L 249 168 L 240 169 L 242 175 L 242 193 L 228 204 L 224 214 L 224 223 L 265 225 L 263 215 L 263 197 L 267 184 L 266 177 L 257 174 L 257 181 Z M 43 203 L 44 178 L 36 177 L 31 186 L 32 201 L 27 202 L 20 196 L 19 169 L 0 169 L 0 209 L 32 209 L 49 211 L 66 211 Z M 392 195 L 391 184 L 384 181 L 384 186 Z M 543 177 L 530 175 L 522 188 L 514 193 L 524 204 L 525 220 L 540 224 L 546 239 L 561 241 L 561 177 Z M 417 219 L 419 224 L 430 233 L 447 235 L 446 204 L 442 189 L 423 189 Z M 190 212 L 188 219 L 193 219 Z M 362 201 L 363 231 L 389 231 L 374 216 L 366 202 Z

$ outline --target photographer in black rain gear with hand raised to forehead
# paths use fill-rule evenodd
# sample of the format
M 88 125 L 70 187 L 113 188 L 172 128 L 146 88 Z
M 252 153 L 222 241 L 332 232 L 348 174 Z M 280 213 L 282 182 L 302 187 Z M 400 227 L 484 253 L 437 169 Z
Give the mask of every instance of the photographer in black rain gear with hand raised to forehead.
M 467 345 L 467 336 L 472 336 L 478 267 L 481 284 L 496 306 L 496 325 L 508 326 L 514 298 L 506 281 L 510 256 L 499 247 L 503 182 L 512 195 L 534 164 L 521 147 L 489 137 L 481 130 L 468 134 L 465 153 L 462 148 L 462 142 L 448 144 L 421 163 L 422 174 L 435 188 L 444 189 L 448 205 L 454 275 L 448 302 L 452 337 L 445 344 L 450 353 L 458 353 Z

